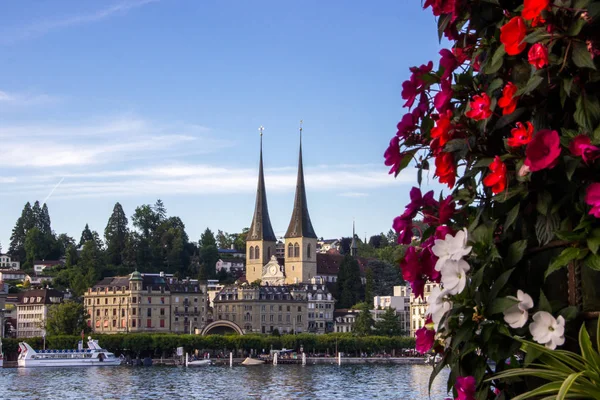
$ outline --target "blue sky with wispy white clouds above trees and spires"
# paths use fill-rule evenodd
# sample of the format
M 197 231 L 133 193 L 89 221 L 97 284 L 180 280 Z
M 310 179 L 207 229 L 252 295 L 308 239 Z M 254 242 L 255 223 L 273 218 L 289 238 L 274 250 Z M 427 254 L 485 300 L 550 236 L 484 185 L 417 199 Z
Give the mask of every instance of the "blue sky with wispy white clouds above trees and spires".
M 271 220 L 293 205 L 304 120 L 318 236 L 387 231 L 415 171 L 387 175 L 408 68 L 438 61 L 419 0 L 0 3 L 0 243 L 27 201 L 103 232 L 161 198 L 192 240 L 250 225 L 263 125 Z M 431 179 L 431 178 L 430 178 Z M 436 193 L 437 195 L 437 193 Z

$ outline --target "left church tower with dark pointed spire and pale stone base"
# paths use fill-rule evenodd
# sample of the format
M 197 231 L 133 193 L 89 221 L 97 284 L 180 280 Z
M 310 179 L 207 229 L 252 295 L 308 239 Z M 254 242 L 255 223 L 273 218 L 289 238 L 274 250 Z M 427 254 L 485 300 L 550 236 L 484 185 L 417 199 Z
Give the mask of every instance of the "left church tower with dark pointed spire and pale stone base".
M 260 163 L 258 166 L 258 188 L 256 189 L 256 206 L 252 224 L 246 236 L 246 279 L 254 282 L 262 277 L 263 266 L 275 255 L 277 238 L 273 233 L 269 208 L 267 207 L 267 193 L 265 190 L 265 176 L 262 162 L 262 132 L 260 131 Z

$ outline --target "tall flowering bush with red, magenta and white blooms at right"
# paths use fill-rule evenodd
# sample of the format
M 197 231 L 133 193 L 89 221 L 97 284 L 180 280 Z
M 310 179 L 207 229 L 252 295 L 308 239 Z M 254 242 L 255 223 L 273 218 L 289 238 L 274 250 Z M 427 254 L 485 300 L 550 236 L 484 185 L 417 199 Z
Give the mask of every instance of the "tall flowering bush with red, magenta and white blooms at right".
M 385 164 L 396 176 L 416 166 L 419 187 L 432 171 L 449 194 L 413 188 L 393 228 L 411 244 L 413 220 L 429 226 L 400 266 L 415 296 L 441 284 L 417 331 L 420 351 L 443 354 L 432 379 L 448 365 L 456 398 L 495 398 L 489 363 L 505 368 L 515 336 L 565 343 L 579 311 L 565 267 L 600 271 L 600 0 L 424 8 L 451 48 L 437 69 L 410 68 Z

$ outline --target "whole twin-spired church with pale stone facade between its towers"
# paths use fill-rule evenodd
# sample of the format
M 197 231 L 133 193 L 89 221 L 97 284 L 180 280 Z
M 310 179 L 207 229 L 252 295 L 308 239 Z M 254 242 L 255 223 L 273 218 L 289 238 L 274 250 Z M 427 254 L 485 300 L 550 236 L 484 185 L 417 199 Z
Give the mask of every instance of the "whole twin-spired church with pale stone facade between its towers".
M 300 128 L 296 195 L 292 217 L 284 237 L 283 265 L 279 265 L 275 257 L 276 244 L 277 238 L 271 226 L 267 206 L 261 131 L 256 206 L 246 237 L 246 280 L 251 283 L 260 279 L 263 285 L 293 285 L 314 281 L 317 277 L 317 235 L 306 202 L 302 165 L 302 128 Z

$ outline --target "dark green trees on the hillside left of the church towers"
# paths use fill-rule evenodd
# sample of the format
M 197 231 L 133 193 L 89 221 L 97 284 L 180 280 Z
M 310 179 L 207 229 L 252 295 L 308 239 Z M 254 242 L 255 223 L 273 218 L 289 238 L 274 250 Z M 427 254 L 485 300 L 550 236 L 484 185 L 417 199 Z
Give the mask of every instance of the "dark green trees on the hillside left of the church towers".
M 35 260 L 64 258 L 64 267 L 44 273 L 54 276 L 56 288 L 70 288 L 79 296 L 103 277 L 124 275 L 134 269 L 164 271 L 180 278 L 214 278 L 218 248 L 245 246 L 245 232 L 219 231 L 215 238 L 208 228 L 199 241 L 191 241 L 183 221 L 169 216 L 160 199 L 153 205 L 136 207 L 131 224 L 132 229 L 123 207 L 117 202 L 103 238 L 86 224 L 77 241 L 52 230 L 46 204 L 36 201 L 31 206 L 28 202 L 12 230 L 8 253 L 22 262 L 26 272 L 33 272 Z

